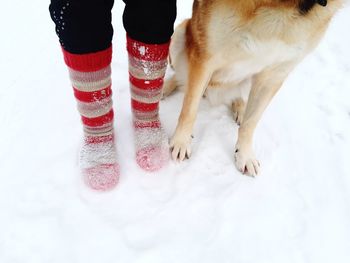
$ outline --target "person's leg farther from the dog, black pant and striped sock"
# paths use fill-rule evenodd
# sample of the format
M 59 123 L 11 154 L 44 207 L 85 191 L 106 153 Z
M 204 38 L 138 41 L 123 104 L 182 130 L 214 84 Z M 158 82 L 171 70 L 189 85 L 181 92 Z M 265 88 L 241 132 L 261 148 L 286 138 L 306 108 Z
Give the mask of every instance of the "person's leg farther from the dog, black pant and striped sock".
M 84 127 L 80 168 L 94 189 L 119 178 L 111 89 L 113 0 L 51 0 L 50 14 Z

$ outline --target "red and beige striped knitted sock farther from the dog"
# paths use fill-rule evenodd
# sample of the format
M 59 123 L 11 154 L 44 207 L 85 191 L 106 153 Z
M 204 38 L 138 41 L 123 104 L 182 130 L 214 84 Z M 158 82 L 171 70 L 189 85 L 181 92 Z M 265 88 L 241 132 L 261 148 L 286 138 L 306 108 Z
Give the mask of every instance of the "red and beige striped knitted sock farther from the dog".
M 79 166 L 93 189 L 108 190 L 119 179 L 113 133 L 112 48 L 83 55 L 63 50 L 84 127 Z

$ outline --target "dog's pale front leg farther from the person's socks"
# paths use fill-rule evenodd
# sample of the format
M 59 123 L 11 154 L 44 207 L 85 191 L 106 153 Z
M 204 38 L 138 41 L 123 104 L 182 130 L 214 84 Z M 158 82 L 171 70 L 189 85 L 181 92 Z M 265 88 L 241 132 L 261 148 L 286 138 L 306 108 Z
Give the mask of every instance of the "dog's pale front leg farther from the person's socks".
M 266 69 L 253 78 L 243 121 L 238 130 L 234 155 L 237 169 L 244 174 L 256 176 L 259 173 L 260 163 L 256 160 L 252 148 L 254 130 L 291 69 L 291 64 L 284 64 Z

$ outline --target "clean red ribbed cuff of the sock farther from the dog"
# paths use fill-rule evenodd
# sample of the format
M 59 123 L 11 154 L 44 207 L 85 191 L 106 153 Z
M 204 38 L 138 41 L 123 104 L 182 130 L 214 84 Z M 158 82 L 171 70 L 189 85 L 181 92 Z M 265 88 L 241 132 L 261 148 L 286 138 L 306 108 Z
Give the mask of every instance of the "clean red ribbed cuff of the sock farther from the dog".
M 62 48 L 66 65 L 76 71 L 93 72 L 107 67 L 112 61 L 112 46 L 88 54 L 72 54 Z

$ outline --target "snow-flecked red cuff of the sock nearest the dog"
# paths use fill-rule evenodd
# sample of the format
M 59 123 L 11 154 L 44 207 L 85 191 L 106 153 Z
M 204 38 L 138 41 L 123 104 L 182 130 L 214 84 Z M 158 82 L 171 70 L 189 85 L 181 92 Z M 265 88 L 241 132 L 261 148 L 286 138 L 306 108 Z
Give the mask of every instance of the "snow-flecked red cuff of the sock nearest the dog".
M 161 61 L 168 57 L 170 41 L 165 44 L 146 44 L 126 36 L 129 55 L 146 61 Z

